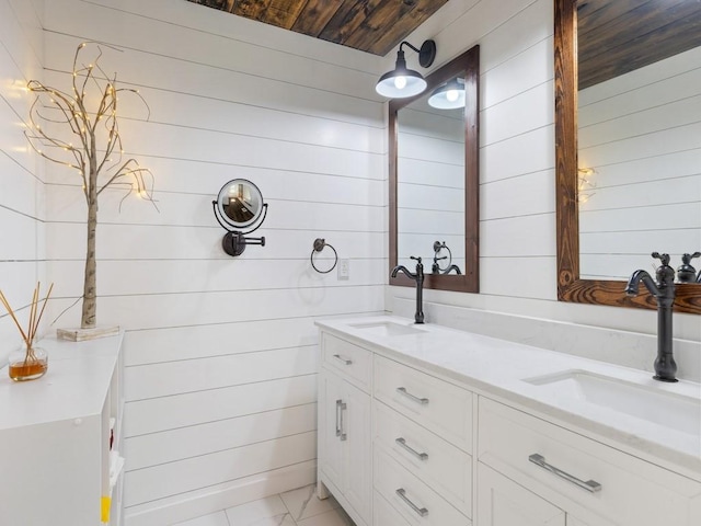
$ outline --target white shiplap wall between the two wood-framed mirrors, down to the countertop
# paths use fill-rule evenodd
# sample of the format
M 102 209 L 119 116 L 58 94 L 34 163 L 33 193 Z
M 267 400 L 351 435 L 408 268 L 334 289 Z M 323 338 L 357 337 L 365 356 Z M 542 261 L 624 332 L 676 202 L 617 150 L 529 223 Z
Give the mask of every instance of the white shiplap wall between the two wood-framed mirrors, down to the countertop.
M 438 45 L 436 67 L 480 44 L 481 283 L 479 295 L 427 290 L 427 320 L 585 355 L 587 342 L 598 342 L 589 352 L 601 359 L 652 368 L 654 336 L 619 353 L 617 331 L 655 334 L 654 311 L 556 301 L 552 0 L 451 1 L 407 39 L 428 37 Z M 412 289 L 388 287 L 388 310 L 411 316 L 412 300 Z M 521 331 L 503 330 L 505 323 Z M 586 327 L 611 330 L 606 348 L 598 329 Z M 700 378 L 698 316 L 675 315 L 675 336 L 687 358 L 679 370 Z

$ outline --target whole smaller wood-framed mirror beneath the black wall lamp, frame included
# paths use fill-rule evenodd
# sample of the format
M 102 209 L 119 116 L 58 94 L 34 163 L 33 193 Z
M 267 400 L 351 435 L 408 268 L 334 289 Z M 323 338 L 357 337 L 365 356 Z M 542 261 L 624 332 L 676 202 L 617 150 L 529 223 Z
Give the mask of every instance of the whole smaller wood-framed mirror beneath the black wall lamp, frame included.
M 389 103 L 390 272 L 413 272 L 410 256 L 421 256 L 425 288 L 479 293 L 480 47 L 426 82 L 424 93 Z M 456 102 L 436 104 L 440 93 Z M 399 274 L 390 285 L 415 283 Z

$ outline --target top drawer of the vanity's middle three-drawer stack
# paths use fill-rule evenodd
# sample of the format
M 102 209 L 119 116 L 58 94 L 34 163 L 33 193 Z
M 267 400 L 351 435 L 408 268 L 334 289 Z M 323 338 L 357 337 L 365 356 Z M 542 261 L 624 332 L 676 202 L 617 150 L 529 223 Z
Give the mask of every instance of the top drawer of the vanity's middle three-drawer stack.
M 375 356 L 375 397 L 464 451 L 472 450 L 472 393 Z

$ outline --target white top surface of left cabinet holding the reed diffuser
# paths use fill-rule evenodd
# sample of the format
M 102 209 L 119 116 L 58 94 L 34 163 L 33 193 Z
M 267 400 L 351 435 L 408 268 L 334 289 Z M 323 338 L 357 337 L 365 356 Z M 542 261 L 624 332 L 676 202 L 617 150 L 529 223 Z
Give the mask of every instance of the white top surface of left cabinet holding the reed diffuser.
M 102 412 L 119 356 L 123 333 L 87 342 L 36 342 L 48 353 L 46 375 L 27 381 L 10 379 L 0 368 L 0 430 L 22 427 Z

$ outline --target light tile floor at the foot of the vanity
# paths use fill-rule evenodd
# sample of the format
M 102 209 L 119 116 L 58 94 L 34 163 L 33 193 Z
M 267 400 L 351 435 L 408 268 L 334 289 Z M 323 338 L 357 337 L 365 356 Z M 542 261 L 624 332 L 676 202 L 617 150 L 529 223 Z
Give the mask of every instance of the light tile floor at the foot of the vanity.
M 320 501 L 315 490 L 306 485 L 174 526 L 355 526 L 333 496 Z

